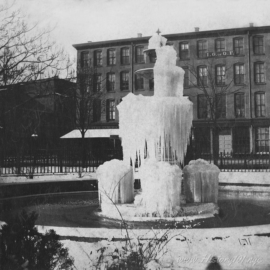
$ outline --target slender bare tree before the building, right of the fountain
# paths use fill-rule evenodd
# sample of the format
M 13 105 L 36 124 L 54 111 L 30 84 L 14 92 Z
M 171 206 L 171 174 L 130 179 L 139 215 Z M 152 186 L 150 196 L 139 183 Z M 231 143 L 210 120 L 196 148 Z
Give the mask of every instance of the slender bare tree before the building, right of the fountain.
M 218 120 L 226 117 L 224 103 L 227 95 L 234 95 L 245 87 L 244 70 L 238 70 L 235 76 L 227 76 L 228 73 L 234 74 L 233 65 L 227 66 L 226 60 L 221 63 L 218 58 L 206 59 L 198 67 L 185 62 L 189 72 L 197 80 L 190 79 L 191 85 L 196 87 L 199 106 L 198 113 L 201 119 L 207 120 L 208 126 L 211 124 L 213 136 L 213 158 L 214 164 L 217 165 L 219 155 L 219 123 Z M 237 74 L 238 73 L 238 74 Z M 236 82 L 234 82 L 236 80 Z M 235 83 L 239 86 L 235 87 Z

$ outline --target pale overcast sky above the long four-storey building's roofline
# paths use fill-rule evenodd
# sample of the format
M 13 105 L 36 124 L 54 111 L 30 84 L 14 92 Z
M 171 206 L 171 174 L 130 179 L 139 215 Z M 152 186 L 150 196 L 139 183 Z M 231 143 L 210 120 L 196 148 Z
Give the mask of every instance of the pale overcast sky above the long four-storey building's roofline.
M 0 0 L 1 1 L 1 0 Z M 13 0 L 8 0 L 13 2 Z M 72 44 L 249 26 L 270 25 L 268 0 L 15 0 L 28 21 L 56 25 L 52 38 L 76 56 Z

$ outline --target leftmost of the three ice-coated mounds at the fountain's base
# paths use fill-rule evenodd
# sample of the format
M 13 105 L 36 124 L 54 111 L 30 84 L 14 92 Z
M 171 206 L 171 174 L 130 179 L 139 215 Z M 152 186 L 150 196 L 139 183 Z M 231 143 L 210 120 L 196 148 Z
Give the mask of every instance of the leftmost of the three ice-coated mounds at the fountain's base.
M 132 203 L 134 201 L 134 178 L 131 166 L 122 160 L 104 162 L 96 171 L 101 209 L 108 205 Z

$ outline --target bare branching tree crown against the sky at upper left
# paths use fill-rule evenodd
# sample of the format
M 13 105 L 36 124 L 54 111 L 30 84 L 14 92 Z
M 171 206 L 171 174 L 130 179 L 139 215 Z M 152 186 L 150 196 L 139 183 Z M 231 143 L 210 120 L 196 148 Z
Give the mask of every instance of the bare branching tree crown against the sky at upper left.
M 28 25 L 13 4 L 0 5 L 0 86 L 55 76 L 68 69 L 72 63 L 64 50 L 50 41 L 52 29 Z

